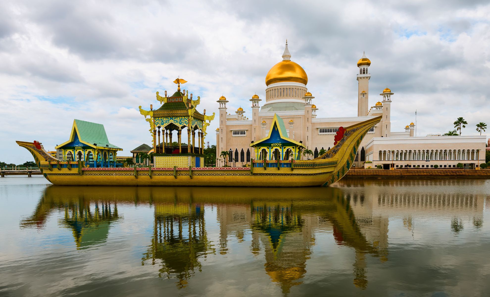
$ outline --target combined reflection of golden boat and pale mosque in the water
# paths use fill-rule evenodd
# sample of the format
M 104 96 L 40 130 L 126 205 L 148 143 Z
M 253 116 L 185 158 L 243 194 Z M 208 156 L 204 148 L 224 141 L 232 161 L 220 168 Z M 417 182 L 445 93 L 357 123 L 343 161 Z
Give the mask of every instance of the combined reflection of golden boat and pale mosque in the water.
M 448 218 L 458 232 L 461 220 L 472 219 L 475 227 L 481 226 L 484 204 L 483 195 L 464 189 L 459 193 L 455 189 L 464 186 L 451 180 L 344 180 L 329 188 L 233 192 L 220 188 L 74 188 L 48 187 L 33 215 L 21 225 L 42 227 L 51 212 L 64 212 L 60 225 L 73 229 L 76 247 L 83 248 L 105 242 L 110 224 L 122 219 L 117 205 L 149 204 L 154 208 L 154 223 L 142 265 L 158 265 L 159 276 L 176 278 L 177 286 L 185 287 L 202 270 L 205 257 L 232 252 L 229 240 L 235 237 L 242 244 L 250 234 L 251 254 L 256 259 L 264 255 L 265 273 L 284 293 L 302 283 L 307 260 L 315 248 L 321 248 L 315 247 L 319 231 L 331 230 L 337 245 L 354 251 L 353 283 L 366 288 L 367 257 L 389 261 L 390 218 L 402 219 L 413 230 L 415 217 L 437 215 Z M 438 194 L 426 194 L 428 188 Z M 220 227 L 217 244 L 206 232 L 204 212 L 210 207 L 215 208 Z

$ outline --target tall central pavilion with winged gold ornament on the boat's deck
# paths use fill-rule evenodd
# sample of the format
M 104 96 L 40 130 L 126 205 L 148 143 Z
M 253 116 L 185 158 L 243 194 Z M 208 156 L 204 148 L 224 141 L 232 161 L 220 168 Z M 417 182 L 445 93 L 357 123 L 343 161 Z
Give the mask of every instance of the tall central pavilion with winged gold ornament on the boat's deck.
M 189 96 L 189 92 L 180 91 L 180 84 L 186 83 L 186 80 L 177 78 L 173 82 L 177 84 L 177 91 L 172 96 L 168 97 L 167 91 L 165 97 L 156 92 L 156 98 L 162 104 L 160 108 L 153 109 L 153 104 L 150 104 L 150 110 L 139 107 L 140 113 L 150 124 L 153 149 L 148 153 L 152 155 L 153 167 L 202 167 L 206 128 L 215 114 L 206 116 L 206 110 L 203 113 L 196 110 L 200 98 L 193 100 L 192 94 Z M 187 143 L 184 142 L 185 134 Z

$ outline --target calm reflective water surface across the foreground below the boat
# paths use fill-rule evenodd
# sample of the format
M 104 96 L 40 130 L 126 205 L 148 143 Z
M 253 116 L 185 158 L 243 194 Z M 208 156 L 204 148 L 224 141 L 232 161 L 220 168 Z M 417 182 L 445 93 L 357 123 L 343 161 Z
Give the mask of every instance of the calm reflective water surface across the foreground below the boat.
M 490 180 L 0 196 L 0 296 L 490 296 Z

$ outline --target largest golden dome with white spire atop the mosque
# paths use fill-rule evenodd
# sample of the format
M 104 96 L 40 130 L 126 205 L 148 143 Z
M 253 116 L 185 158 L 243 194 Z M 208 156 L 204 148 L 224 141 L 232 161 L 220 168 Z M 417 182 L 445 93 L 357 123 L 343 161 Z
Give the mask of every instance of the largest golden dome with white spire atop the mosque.
M 266 75 L 266 85 L 270 85 L 276 82 L 299 82 L 302 84 L 308 83 L 308 75 L 304 69 L 298 64 L 291 61 L 291 53 L 288 49 L 288 42 L 286 41 L 286 49 L 282 54 L 282 61 L 272 66 Z

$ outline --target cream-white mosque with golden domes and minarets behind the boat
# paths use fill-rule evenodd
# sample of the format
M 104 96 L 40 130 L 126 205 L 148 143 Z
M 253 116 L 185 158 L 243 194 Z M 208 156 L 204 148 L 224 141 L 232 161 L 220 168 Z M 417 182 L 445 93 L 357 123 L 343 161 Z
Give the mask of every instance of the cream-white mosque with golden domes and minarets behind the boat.
M 306 86 L 308 75 L 291 60 L 286 42 L 282 61 L 272 66 L 266 75 L 265 100 L 256 94 L 250 99 L 250 119 L 245 116 L 242 107 L 235 112 L 228 111 L 226 103 L 229 100 L 224 96 L 217 101 L 220 115 L 219 127 L 216 129 L 218 163 L 222 162 L 221 151 L 228 151 L 227 161 L 233 162 L 235 166 L 244 166 L 254 156 L 262 160 L 289 159 L 289 154 L 271 151 L 272 147 L 261 148 L 259 154 L 250 147 L 251 143 L 269 135 L 276 122 L 275 115 L 287 123 L 286 132 L 290 139 L 302 144 L 305 151 L 313 152 L 311 155 L 302 155 L 303 159 L 316 158 L 323 150 L 333 147 L 334 137 L 340 127 L 383 116 L 381 122 L 371 128 L 363 139 L 355 167 L 363 167 L 368 161 L 366 168 L 378 165 L 384 169 L 434 168 L 435 165 L 453 168 L 458 163 L 463 163 L 466 168 L 476 168 L 479 163 L 485 162 L 485 135 L 417 137 L 414 123 L 402 127 L 402 131 L 392 131 L 391 104 L 394 93 L 389 88 L 382 90 L 380 101 L 369 106 L 370 65 L 371 61 L 366 54 L 357 62 L 357 117 L 319 118 L 315 97 Z M 261 101 L 265 102 L 261 105 Z

